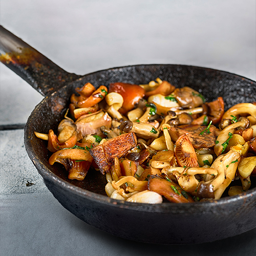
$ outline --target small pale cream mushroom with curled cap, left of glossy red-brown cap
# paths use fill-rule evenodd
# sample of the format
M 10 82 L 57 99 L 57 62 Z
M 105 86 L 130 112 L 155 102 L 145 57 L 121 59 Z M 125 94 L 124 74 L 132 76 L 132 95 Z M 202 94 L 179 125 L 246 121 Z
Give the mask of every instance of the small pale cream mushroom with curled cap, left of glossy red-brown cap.
M 122 115 L 118 110 L 123 105 L 123 97 L 119 93 L 109 93 L 105 96 L 105 101 L 108 106 L 106 107 L 106 111 L 110 114 L 111 117 L 116 118 L 117 120 L 120 120 L 122 118 Z

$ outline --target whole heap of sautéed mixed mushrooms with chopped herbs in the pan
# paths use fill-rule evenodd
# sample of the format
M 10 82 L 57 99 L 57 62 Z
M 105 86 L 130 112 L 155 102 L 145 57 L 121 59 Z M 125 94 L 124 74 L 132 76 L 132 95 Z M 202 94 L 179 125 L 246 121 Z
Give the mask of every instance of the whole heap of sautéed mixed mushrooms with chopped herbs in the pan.
M 222 97 L 205 102 L 192 88 L 159 78 L 109 90 L 86 83 L 70 101 L 57 135 L 35 135 L 48 140 L 49 163 L 64 165 L 69 179 L 99 170 L 113 199 L 220 199 L 227 187 L 229 196 L 248 190 L 256 175 L 255 102 L 224 113 Z M 234 180 L 240 184 L 230 186 Z

